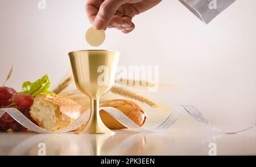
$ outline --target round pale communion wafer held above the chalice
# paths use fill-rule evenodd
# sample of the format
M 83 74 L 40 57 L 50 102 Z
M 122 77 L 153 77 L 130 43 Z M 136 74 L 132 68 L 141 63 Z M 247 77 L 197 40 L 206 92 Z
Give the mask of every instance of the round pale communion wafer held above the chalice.
M 85 33 L 85 40 L 91 46 L 100 46 L 105 40 L 105 31 L 90 27 Z

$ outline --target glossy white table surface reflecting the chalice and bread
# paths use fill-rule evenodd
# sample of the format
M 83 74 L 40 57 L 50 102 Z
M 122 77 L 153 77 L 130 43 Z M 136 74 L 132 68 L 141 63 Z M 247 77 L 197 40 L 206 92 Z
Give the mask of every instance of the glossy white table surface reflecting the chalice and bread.
M 201 127 L 190 118 L 181 119 L 182 122 L 160 133 L 127 130 L 116 131 L 114 135 L 2 132 L 0 155 L 38 155 L 39 143 L 46 144 L 46 155 L 208 155 L 212 142 L 216 143 L 217 155 L 256 155 L 255 129 L 239 135 L 223 135 Z

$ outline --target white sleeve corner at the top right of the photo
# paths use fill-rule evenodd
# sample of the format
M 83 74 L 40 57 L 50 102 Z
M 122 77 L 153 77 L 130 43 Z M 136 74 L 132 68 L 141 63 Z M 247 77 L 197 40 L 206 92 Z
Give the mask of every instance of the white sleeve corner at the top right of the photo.
M 193 14 L 208 24 L 236 0 L 179 0 Z

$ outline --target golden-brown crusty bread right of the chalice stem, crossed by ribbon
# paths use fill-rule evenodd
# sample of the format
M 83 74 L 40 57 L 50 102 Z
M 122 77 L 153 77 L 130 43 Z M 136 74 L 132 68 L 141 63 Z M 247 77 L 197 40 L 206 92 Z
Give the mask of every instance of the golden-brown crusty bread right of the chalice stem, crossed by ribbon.
M 119 109 L 122 113 L 127 115 L 137 125 L 142 126 L 146 121 L 146 113 L 144 113 L 141 106 L 130 100 L 109 100 L 101 104 L 102 107 L 113 107 Z M 100 111 L 102 121 L 109 129 L 125 129 L 126 127 L 115 120 L 111 115 L 104 110 Z

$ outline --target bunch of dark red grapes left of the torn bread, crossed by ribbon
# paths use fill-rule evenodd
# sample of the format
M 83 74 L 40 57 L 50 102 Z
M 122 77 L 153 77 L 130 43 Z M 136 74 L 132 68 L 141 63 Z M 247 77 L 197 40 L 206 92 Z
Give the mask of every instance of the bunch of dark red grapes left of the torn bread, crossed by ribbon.
M 17 93 L 13 88 L 0 87 L 0 108 L 16 108 L 30 121 L 36 123 L 30 116 L 30 106 L 34 97 L 27 94 Z M 26 131 L 26 127 L 20 125 L 9 114 L 5 113 L 0 118 L 0 131 L 13 130 L 15 132 Z

